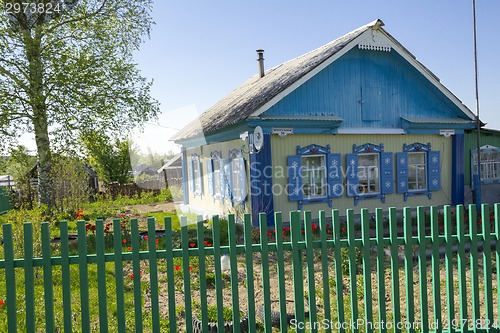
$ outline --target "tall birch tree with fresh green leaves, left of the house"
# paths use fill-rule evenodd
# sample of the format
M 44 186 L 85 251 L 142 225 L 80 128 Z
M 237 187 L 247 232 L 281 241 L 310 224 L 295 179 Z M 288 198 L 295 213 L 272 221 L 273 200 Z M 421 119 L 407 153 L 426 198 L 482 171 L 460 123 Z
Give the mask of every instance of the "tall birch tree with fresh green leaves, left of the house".
M 0 0 L 0 133 L 35 135 L 40 200 L 53 206 L 52 150 L 156 117 L 132 54 L 152 0 Z

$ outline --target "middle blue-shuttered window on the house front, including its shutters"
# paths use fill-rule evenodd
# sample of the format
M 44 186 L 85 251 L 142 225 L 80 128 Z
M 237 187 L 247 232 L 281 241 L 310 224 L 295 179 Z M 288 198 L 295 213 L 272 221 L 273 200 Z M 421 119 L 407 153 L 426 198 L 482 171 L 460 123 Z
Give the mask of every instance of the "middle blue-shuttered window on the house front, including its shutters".
M 347 196 L 360 199 L 378 198 L 394 192 L 392 153 L 384 152 L 384 145 L 366 143 L 353 145 L 352 154 L 346 154 Z

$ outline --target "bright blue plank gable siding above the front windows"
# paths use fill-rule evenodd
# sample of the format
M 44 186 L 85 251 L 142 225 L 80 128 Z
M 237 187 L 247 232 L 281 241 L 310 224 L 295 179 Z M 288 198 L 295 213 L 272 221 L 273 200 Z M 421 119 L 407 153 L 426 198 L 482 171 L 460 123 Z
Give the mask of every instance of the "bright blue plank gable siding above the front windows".
M 394 50 L 354 48 L 276 103 L 265 115 L 338 116 L 342 127 L 401 127 L 401 116 L 463 114 Z

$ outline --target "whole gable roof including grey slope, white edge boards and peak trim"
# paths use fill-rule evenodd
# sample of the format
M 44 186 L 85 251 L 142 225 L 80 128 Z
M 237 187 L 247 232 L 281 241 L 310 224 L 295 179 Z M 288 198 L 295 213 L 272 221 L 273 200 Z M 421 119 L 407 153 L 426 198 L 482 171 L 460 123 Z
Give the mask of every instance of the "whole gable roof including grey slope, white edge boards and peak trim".
M 257 117 L 296 89 L 310 77 L 331 64 L 347 51 L 358 45 L 360 48 L 396 49 L 408 62 L 417 68 L 441 92 L 443 92 L 466 116 L 474 120 L 474 114 L 444 87 L 437 76 L 381 28 L 384 23 L 375 20 L 311 52 L 265 71 L 263 77 L 254 75 L 226 97 L 202 113 L 172 137 L 174 141 L 201 137 L 204 134 L 238 124 L 249 117 Z M 380 32 L 382 44 L 373 44 L 369 31 Z M 373 35 L 371 36 L 373 37 Z M 382 45 L 382 46 L 380 46 Z

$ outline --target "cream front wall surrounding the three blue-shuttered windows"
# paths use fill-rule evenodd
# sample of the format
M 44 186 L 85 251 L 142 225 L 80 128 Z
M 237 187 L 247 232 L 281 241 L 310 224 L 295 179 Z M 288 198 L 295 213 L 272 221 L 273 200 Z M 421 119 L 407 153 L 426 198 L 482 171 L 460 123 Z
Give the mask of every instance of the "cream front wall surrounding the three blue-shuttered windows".
M 294 155 L 296 146 L 308 146 L 317 144 L 326 146 L 330 144 L 332 153 L 342 154 L 342 167 L 345 170 L 345 155 L 352 153 L 353 144 L 362 145 L 365 143 L 384 144 L 385 152 L 401 152 L 403 143 L 412 144 L 415 142 L 431 143 L 432 150 L 441 152 L 441 190 L 432 192 L 432 200 L 426 195 L 410 196 L 405 202 L 403 194 L 394 193 L 386 197 L 386 202 L 382 203 L 380 199 L 359 200 L 357 206 L 354 206 L 354 200 L 351 197 L 342 196 L 341 198 L 333 199 L 333 208 L 340 210 L 340 214 L 344 215 L 346 209 L 353 208 L 355 214 L 360 213 L 361 208 L 368 208 L 371 212 L 375 208 L 382 207 L 397 207 L 398 209 L 405 206 L 429 206 L 429 205 L 444 205 L 451 202 L 451 170 L 452 170 L 452 141 L 451 138 L 445 138 L 439 135 L 287 135 L 286 137 L 272 136 L 271 144 L 273 151 L 273 170 L 277 175 L 273 179 L 274 186 L 274 208 L 275 211 L 281 211 L 288 214 L 289 211 L 297 210 L 297 202 L 289 201 L 288 196 L 278 191 L 284 189 L 287 185 L 287 156 Z M 394 155 L 395 160 L 395 155 Z M 283 173 L 280 173 L 284 170 Z M 396 169 L 394 166 L 394 182 L 396 181 Z M 345 185 L 345 177 L 344 177 Z M 396 186 L 394 186 L 396 192 Z M 319 210 L 325 210 L 327 216 L 331 215 L 331 210 L 327 203 L 314 203 L 304 205 L 302 210 L 310 210 L 317 217 Z

